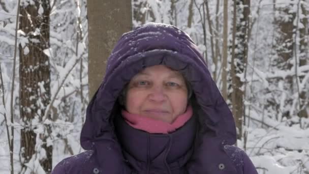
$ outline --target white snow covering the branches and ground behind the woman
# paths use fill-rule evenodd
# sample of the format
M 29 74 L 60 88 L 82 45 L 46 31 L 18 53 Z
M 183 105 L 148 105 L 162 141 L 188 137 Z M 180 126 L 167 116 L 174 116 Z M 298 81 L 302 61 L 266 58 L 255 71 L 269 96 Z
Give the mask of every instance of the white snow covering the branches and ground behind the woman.
M 20 130 L 27 127 L 31 127 L 34 131 L 41 135 L 46 135 L 48 132 L 46 126 L 51 128 L 51 133 L 47 139 L 47 144 L 53 146 L 53 167 L 65 157 L 71 156 L 67 147 L 71 147 L 73 155 L 82 152 L 80 147 L 79 137 L 82 125 L 85 120 L 85 110 L 88 103 L 88 24 L 86 19 L 87 9 L 86 0 L 59 1 L 53 7 L 50 14 L 50 46 L 43 52 L 48 56 L 46 65 L 50 65 L 51 77 L 50 77 L 50 100 L 53 103 L 47 106 L 49 112 L 45 112 L 45 117 L 42 120 L 39 115 L 43 114 L 45 107 L 42 104 L 41 98 L 30 96 L 31 101 L 35 101 L 34 105 L 29 107 L 19 108 L 19 50 L 17 50 L 16 59 L 16 76 L 12 77 L 13 69 L 13 55 L 15 44 L 15 22 L 17 12 L 17 1 L 4 0 L 3 1 L 8 9 L 6 12 L 2 6 L 0 6 L 0 65 L 2 68 L 2 75 L 4 81 L 4 91 L 0 88 L 0 173 L 10 173 L 10 151 L 9 141 L 7 138 L 7 130 L 4 121 L 4 114 L 8 118 L 8 128 L 14 128 L 14 172 L 19 173 L 21 170 L 19 150 L 20 150 Z M 210 32 L 208 21 L 206 19 L 206 44 L 204 45 L 204 35 L 202 28 L 202 20 L 199 15 L 198 7 L 201 7 L 202 0 L 195 1 L 197 6 L 193 4 L 193 18 L 191 27 L 188 25 L 189 5 L 190 1 L 179 0 L 174 1 L 175 11 L 171 16 L 171 1 L 151 1 L 151 0 L 137 0 L 133 4 L 140 5 L 140 12 L 144 15 L 145 27 L 158 26 L 162 23 L 166 23 L 167 27 L 172 27 L 170 24 L 177 24 L 177 27 L 187 32 L 192 40 L 198 46 L 198 49 L 203 54 L 207 51 L 208 67 L 210 72 L 215 70 L 215 65 L 212 61 L 211 47 L 210 47 Z M 223 45 L 223 2 L 220 1 L 220 7 L 218 11 L 219 28 L 216 28 L 216 5 L 218 1 L 208 1 L 210 19 L 213 29 L 214 43 L 218 40 L 219 54 L 222 58 L 222 45 Z M 27 4 L 27 2 L 25 2 Z M 34 1 L 28 1 L 30 4 L 34 4 Z M 277 37 L 280 36 L 276 23 L 273 21 L 274 17 L 285 19 L 286 21 L 292 21 L 291 15 L 288 16 L 283 13 L 279 13 L 278 10 L 273 11 L 273 1 L 263 0 L 251 1 L 251 21 L 255 22 L 252 26 L 252 35 L 249 40 L 248 50 L 248 69 L 246 76 L 244 73 L 236 74 L 241 77 L 241 81 L 246 82 L 242 86 L 242 90 L 246 90 L 246 96 L 244 98 L 244 104 L 246 106 L 245 116 L 246 123 L 243 126 L 243 131 L 248 132 L 246 141 L 240 139 L 237 141 L 237 146 L 244 149 L 250 156 L 254 165 L 260 174 L 306 174 L 309 172 L 309 119 L 299 118 L 297 112 L 299 111 L 298 103 L 298 89 L 296 85 L 296 74 L 298 77 L 299 92 L 305 92 L 306 98 L 304 102 L 308 102 L 309 91 L 309 65 L 299 66 L 299 57 L 305 54 L 300 54 L 299 47 L 301 38 L 299 34 L 296 35 L 296 47 L 297 47 L 297 64 L 295 63 L 295 57 L 291 57 L 292 68 L 281 69 L 276 63 L 281 59 L 280 55 L 276 52 L 276 49 L 284 48 L 286 45 L 293 45 L 292 42 L 286 42 L 283 44 L 277 43 Z M 286 8 L 289 4 L 290 12 L 297 11 L 298 1 L 291 0 L 277 0 L 276 8 Z M 301 1 L 309 10 L 308 3 Z M 25 5 L 26 5 L 25 4 Z M 229 45 L 232 41 L 232 2 L 229 1 L 228 20 L 229 20 Z M 241 7 L 244 7 L 241 5 Z M 136 7 L 135 7 L 136 8 Z M 258 13 L 258 8 L 259 13 Z M 42 5 L 37 9 L 39 15 L 44 13 Z M 203 13 L 203 11 L 201 11 Z M 300 19 L 308 18 L 308 15 L 302 13 L 300 10 L 297 12 Z M 177 15 L 177 16 L 175 16 Z M 28 19 L 31 19 L 29 15 L 26 15 Z M 81 19 L 81 27 L 83 28 L 82 34 L 83 40 L 78 43 L 78 53 L 76 55 L 76 34 L 77 34 L 77 20 Z M 33 22 L 33 21 L 30 21 Z M 102 22 L 102 21 L 100 21 Z M 303 28 L 304 25 L 297 21 L 296 18 L 292 21 L 294 27 Z M 6 25 L 4 26 L 4 23 Z M 137 21 L 133 16 L 133 25 L 142 24 L 142 21 Z M 294 32 L 298 31 L 295 30 Z M 29 44 L 39 43 L 36 38 L 30 37 L 30 35 L 41 35 L 40 28 L 36 28 L 31 34 L 18 30 L 18 45 L 20 44 L 24 54 L 29 53 Z M 160 35 L 161 32 L 148 32 L 140 35 Z M 128 32 L 130 33 L 130 32 Z M 237 32 L 237 35 L 242 34 Z M 140 35 L 136 36 L 139 37 Z M 147 37 L 143 36 L 143 39 Z M 217 37 L 218 36 L 218 37 Z M 306 36 L 306 39 L 308 36 Z M 243 43 L 236 41 L 239 46 L 235 52 L 240 52 L 243 47 Z M 17 48 L 18 49 L 18 48 Z M 230 49 L 229 49 L 230 51 Z M 103 59 L 104 57 L 102 57 Z M 82 79 L 80 80 L 80 61 L 82 61 Z M 221 89 L 221 60 L 219 59 L 217 67 L 218 86 Z M 228 73 L 231 72 L 230 67 L 231 52 L 228 55 Z M 98 68 L 103 68 L 98 65 Z M 296 69 L 297 71 L 296 71 Z M 33 71 L 38 68 L 37 65 L 33 65 L 28 71 Z M 293 79 L 292 88 L 289 88 L 288 78 Z M 245 79 L 246 78 L 246 79 Z M 12 79 L 15 80 L 15 89 L 13 90 L 13 111 L 14 111 L 14 123 L 11 123 L 11 85 Z M 45 82 L 39 82 L 39 91 L 42 94 L 46 93 L 44 88 Z M 0 87 L 2 82 L 0 81 Z M 82 89 L 80 89 L 83 86 Z M 28 88 L 28 92 L 37 91 L 36 89 Z M 83 96 L 81 97 L 81 90 Z M 3 97 L 5 103 L 3 103 Z M 83 98 L 83 102 L 81 102 Z M 231 103 L 230 101 L 228 101 Z M 272 104 L 270 104 L 272 103 Z M 23 109 L 30 113 L 35 105 L 40 109 L 36 111 L 36 117 L 29 125 L 24 124 L 20 120 L 19 109 Z M 304 106 L 306 107 L 306 106 Z M 309 108 L 305 108 L 307 113 Z M 287 114 L 289 113 L 289 114 Z M 50 118 L 47 117 L 50 115 Z M 287 116 L 288 115 L 288 116 Z M 11 132 L 10 132 L 11 135 Z M 24 173 L 45 173 L 41 167 L 40 159 L 46 157 L 46 152 L 42 149 L 42 140 L 40 136 L 36 137 L 38 142 L 35 147 L 36 156 L 33 156 L 31 160 L 26 164 L 29 168 Z M 245 173 L 246 174 L 246 173 Z

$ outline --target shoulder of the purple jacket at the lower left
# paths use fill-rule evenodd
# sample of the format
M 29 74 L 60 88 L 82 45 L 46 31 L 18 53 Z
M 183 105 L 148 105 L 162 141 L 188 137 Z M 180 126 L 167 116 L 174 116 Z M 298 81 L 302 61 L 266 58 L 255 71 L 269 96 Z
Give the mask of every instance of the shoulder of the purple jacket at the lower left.
M 94 151 L 85 151 L 60 161 L 53 169 L 52 174 L 60 173 L 89 173 L 94 171 L 95 161 L 91 160 Z

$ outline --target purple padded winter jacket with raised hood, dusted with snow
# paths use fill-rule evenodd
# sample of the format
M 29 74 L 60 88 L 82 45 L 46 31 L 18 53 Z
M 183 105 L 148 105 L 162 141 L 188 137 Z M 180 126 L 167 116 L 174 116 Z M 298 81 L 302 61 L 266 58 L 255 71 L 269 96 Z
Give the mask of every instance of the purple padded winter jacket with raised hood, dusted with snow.
M 193 90 L 193 117 L 169 134 L 134 129 L 121 117 L 117 98 L 142 69 L 166 65 Z M 148 23 L 123 34 L 106 75 L 90 101 L 81 131 L 86 151 L 59 162 L 52 173 L 257 174 L 236 142 L 233 115 L 190 37 L 178 28 Z

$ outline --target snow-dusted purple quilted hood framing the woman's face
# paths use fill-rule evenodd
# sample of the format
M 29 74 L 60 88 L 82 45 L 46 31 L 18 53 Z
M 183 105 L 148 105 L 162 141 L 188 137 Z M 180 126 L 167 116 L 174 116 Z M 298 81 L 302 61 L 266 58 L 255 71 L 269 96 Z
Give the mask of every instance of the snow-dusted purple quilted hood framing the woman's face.
M 139 71 L 154 65 L 180 71 L 192 86 L 200 108 L 196 114 L 202 115 L 200 124 L 225 144 L 236 142 L 233 115 L 197 46 L 175 26 L 148 23 L 123 34 L 109 56 L 103 82 L 87 107 L 80 137 L 83 149 L 93 149 L 98 141 L 108 142 L 104 146 L 118 146 L 112 109 L 123 86 Z

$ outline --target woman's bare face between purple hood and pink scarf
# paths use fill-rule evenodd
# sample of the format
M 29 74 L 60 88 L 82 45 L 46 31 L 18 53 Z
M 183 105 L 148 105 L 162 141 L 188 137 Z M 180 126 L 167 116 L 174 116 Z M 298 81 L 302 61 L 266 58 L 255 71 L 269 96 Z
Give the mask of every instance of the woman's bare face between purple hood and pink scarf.
M 183 76 L 164 65 L 145 68 L 128 86 L 126 109 L 129 113 L 172 123 L 186 111 L 187 103 Z

